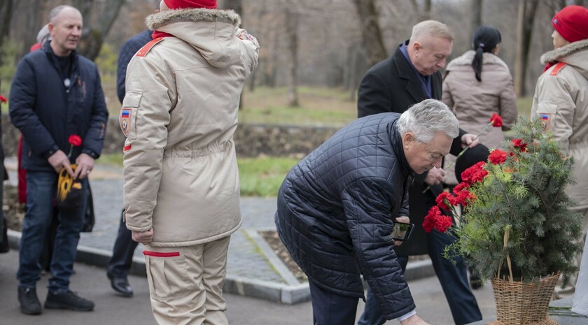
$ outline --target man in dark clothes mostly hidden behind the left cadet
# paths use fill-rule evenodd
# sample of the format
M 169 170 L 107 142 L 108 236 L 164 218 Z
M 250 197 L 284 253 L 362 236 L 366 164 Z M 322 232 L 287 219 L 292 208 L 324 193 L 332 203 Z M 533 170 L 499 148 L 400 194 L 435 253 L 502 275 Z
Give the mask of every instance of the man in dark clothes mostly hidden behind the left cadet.
M 158 12 L 155 10 L 155 12 Z M 146 43 L 151 41 L 151 34 L 153 31 L 146 29 L 141 33 L 129 38 L 123 46 L 120 47 L 118 54 L 118 67 L 116 69 L 116 91 L 118 100 L 123 103 L 125 98 L 125 80 L 127 78 L 127 66 L 132 57 L 137 51 Z M 123 215 L 120 215 L 120 224 L 118 226 L 118 234 L 116 242 L 112 250 L 112 257 L 109 265 L 106 266 L 106 275 L 111 280 L 111 287 L 120 295 L 130 297 L 133 295 L 133 289 L 129 284 L 128 275 L 133 263 L 133 254 L 137 248 L 136 241 L 131 238 L 131 231 L 125 226 L 123 222 Z

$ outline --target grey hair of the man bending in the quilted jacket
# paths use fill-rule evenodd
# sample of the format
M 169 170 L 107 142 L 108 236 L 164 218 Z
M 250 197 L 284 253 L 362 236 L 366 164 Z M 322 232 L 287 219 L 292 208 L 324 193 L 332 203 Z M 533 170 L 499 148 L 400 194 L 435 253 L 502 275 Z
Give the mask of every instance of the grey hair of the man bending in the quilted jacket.
M 426 99 L 410 106 L 400 115 L 396 128 L 400 136 L 412 132 L 416 140 L 423 143 L 430 143 L 437 132 L 443 132 L 449 138 L 459 135 L 459 124 L 454 113 L 436 99 Z

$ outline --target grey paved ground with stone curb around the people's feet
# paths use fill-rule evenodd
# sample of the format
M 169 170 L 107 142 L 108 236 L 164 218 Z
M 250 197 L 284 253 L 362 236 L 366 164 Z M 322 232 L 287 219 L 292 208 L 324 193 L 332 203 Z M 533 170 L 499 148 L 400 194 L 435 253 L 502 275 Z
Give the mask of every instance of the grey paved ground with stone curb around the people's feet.
M 10 182 L 15 182 L 15 162 L 7 159 L 6 165 Z M 0 325 L 34 325 L 39 322 L 48 325 L 154 324 L 141 247 L 135 252 L 136 263 L 133 275 L 130 275 L 134 298 L 117 296 L 110 288 L 103 268 L 111 255 L 120 222 L 123 205 L 121 177 L 120 168 L 108 166 L 97 166 L 91 175 L 97 220 L 92 233 L 82 234 L 78 259 L 85 263 L 76 263 L 76 274 L 71 278 L 71 288 L 94 300 L 97 303 L 96 310 L 91 313 L 43 310 L 41 317 L 20 314 L 14 277 L 18 251 L 13 250 L 8 254 L 0 254 Z M 227 315 L 230 324 L 311 324 L 307 284 L 294 284 L 291 275 L 288 276 L 287 269 L 280 266 L 281 261 L 271 252 L 269 245 L 257 235 L 259 229 L 275 229 L 275 204 L 275 198 L 241 200 L 243 226 L 231 239 L 224 288 L 225 293 L 228 293 L 225 297 L 229 305 Z M 20 233 L 10 231 L 13 246 L 18 243 L 19 236 Z M 449 306 L 440 284 L 436 277 L 428 276 L 431 274 L 428 261 L 409 263 L 407 277 L 419 315 L 430 324 L 452 324 Z M 47 279 L 43 277 L 37 285 L 41 301 L 45 300 Z M 489 283 L 475 290 L 474 294 L 484 319 L 494 317 L 496 311 Z M 290 303 L 296 304 L 288 305 Z M 362 310 L 363 302 L 360 301 L 357 317 Z M 585 320 L 579 319 L 580 322 L 574 324 L 587 324 Z M 391 321 L 386 324 L 398 323 Z

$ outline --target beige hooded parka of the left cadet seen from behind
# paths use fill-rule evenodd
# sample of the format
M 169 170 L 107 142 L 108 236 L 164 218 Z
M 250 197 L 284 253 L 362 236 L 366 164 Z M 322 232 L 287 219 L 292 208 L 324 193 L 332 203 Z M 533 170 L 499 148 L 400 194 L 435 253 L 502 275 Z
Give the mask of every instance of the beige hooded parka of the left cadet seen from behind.
M 257 40 L 234 11 L 166 10 L 148 28 L 172 34 L 137 52 L 127 69 L 120 127 L 125 221 L 153 227 L 150 245 L 197 245 L 241 224 L 233 133 Z M 154 44 L 155 43 L 155 44 Z

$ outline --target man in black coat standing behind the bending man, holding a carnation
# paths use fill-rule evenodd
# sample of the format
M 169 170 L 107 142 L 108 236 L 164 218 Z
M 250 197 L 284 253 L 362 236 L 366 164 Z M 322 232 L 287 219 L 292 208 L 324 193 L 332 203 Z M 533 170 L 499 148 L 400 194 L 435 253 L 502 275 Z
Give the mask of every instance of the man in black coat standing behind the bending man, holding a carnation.
M 384 112 L 402 113 L 423 99 L 441 99 L 439 69 L 445 66 L 451 54 L 453 38 L 453 32 L 441 22 L 426 20 L 416 24 L 408 41 L 365 74 L 358 90 L 358 117 Z M 454 139 L 454 145 L 459 142 L 459 138 Z M 414 179 L 409 190 L 409 217 L 414 222 L 414 229 L 409 241 L 396 247 L 396 254 L 404 271 L 409 255 L 428 253 L 454 322 L 469 324 L 482 319 L 482 314 L 468 284 L 465 263 L 463 259 L 456 259 L 454 264 L 442 257 L 444 247 L 453 243 L 455 238 L 450 233 L 436 230 L 425 233 L 422 226 L 428 209 L 435 205 L 435 197 L 443 190 L 441 182 L 445 173 L 440 166 L 437 167 Z M 358 325 L 384 324 L 379 306 L 368 290 Z

